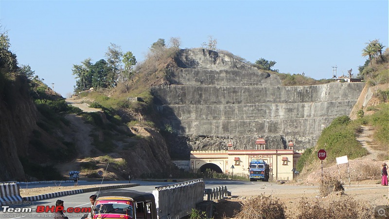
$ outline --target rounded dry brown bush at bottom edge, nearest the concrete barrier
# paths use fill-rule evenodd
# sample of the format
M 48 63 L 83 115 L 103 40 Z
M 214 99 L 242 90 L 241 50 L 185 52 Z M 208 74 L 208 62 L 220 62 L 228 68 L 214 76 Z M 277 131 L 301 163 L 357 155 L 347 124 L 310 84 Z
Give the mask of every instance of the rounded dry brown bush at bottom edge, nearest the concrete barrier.
M 286 219 L 286 206 L 282 201 L 261 194 L 243 203 L 239 219 Z

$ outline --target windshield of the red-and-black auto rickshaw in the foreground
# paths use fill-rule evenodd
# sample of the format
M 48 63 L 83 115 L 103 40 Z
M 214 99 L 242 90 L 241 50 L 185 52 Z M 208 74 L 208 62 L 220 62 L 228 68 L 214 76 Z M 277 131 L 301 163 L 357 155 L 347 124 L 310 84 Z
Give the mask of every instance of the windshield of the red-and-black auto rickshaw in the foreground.
M 132 201 L 126 200 L 102 200 L 96 201 L 94 214 L 116 214 L 126 215 L 127 218 L 133 218 Z M 121 217 L 123 218 L 123 217 Z

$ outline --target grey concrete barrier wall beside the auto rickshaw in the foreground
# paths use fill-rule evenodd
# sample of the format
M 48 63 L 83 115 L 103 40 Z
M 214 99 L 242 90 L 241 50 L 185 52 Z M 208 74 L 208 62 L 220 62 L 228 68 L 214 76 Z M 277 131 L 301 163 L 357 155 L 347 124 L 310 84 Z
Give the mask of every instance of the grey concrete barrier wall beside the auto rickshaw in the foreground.
M 182 218 L 203 201 L 203 179 L 158 186 L 153 191 L 159 219 Z

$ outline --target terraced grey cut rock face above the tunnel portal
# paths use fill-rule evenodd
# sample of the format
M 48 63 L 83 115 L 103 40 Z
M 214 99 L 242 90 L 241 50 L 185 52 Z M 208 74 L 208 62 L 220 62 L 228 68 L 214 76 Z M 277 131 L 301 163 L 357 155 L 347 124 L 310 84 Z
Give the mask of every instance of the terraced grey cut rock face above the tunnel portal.
M 323 128 L 349 115 L 364 83 L 281 86 L 276 74 L 261 72 L 227 55 L 181 50 L 174 84 L 152 88 L 158 111 L 170 124 L 180 153 L 192 150 L 267 149 L 314 146 Z

